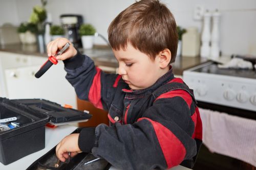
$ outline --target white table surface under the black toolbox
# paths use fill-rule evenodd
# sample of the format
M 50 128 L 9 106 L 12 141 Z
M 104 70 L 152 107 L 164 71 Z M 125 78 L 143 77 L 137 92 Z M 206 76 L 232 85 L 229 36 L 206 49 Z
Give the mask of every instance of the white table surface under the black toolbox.
M 40 158 L 42 155 L 45 155 L 48 151 L 50 151 L 53 147 L 55 147 L 58 142 L 64 138 L 65 136 L 72 133 L 77 127 L 70 126 L 70 125 L 62 125 L 58 126 L 55 129 L 51 129 L 46 127 L 46 147 L 43 150 L 30 154 L 28 156 L 23 157 L 13 163 L 8 165 L 4 165 L 0 162 L 0 169 L 1 170 L 23 170 L 28 168 L 34 161 Z M 172 170 L 189 170 L 183 166 L 176 166 L 171 168 Z M 118 170 L 115 167 L 111 167 L 110 170 Z

